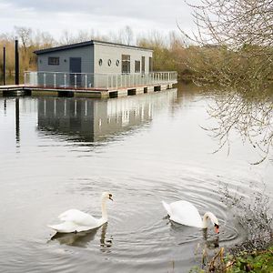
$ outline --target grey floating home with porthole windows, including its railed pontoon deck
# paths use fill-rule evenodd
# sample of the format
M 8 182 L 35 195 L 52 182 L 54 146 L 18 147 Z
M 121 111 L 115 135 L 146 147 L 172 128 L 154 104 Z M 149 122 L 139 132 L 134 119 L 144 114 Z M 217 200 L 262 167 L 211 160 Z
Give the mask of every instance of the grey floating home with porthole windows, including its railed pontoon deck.
M 116 97 L 171 88 L 177 72 L 154 72 L 153 50 L 86 41 L 35 51 L 37 71 L 25 72 L 32 94 Z

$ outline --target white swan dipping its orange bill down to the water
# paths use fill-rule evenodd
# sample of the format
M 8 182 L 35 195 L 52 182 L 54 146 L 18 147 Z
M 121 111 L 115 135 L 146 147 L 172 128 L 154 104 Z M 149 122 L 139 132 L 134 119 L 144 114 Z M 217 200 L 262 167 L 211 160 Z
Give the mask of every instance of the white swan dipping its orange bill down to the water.
M 162 201 L 162 204 L 167 210 L 170 220 L 189 227 L 207 228 L 209 218 L 214 225 L 215 232 L 219 233 L 218 219 L 212 212 L 207 211 L 202 219 L 197 207 L 190 202 L 180 200 L 167 204 L 165 201 Z

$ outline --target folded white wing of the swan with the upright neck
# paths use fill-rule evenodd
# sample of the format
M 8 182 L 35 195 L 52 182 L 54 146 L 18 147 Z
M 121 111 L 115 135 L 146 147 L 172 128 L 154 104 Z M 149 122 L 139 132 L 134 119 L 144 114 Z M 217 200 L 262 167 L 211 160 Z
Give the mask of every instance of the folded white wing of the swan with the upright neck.
M 69 209 L 59 215 L 59 219 L 65 222 L 73 222 L 79 226 L 95 227 L 97 219 L 78 209 Z

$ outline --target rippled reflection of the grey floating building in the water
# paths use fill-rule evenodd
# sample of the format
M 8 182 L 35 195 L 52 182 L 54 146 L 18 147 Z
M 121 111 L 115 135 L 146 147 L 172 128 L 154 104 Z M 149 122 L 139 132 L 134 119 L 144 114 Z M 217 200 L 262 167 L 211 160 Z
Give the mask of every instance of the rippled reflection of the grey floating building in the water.
M 152 120 L 156 109 L 171 106 L 177 89 L 143 96 L 107 100 L 88 98 L 38 98 L 38 129 L 94 142 Z

